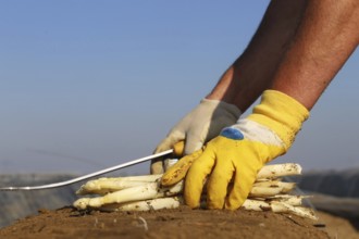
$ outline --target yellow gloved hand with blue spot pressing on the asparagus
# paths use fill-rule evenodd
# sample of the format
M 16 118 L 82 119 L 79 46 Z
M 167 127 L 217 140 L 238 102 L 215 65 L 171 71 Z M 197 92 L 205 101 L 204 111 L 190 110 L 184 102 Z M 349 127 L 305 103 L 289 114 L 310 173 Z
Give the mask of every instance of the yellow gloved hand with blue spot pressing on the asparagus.
M 259 169 L 288 150 L 308 116 L 308 110 L 295 99 L 267 90 L 252 114 L 224 128 L 202 150 L 181 159 L 163 175 L 162 185 L 172 185 L 186 176 L 186 204 L 198 207 L 208 178 L 208 207 L 238 209 Z

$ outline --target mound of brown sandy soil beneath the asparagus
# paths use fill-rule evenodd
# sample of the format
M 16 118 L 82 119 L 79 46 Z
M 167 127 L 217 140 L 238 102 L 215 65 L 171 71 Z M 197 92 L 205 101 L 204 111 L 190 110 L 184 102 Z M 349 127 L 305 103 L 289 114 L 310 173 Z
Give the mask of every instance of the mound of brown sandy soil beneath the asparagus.
M 0 238 L 330 238 L 323 226 L 294 215 L 244 210 L 182 206 L 152 212 L 84 213 L 63 207 L 39 210 L 38 215 L 0 229 Z M 338 230 L 334 232 L 338 235 Z

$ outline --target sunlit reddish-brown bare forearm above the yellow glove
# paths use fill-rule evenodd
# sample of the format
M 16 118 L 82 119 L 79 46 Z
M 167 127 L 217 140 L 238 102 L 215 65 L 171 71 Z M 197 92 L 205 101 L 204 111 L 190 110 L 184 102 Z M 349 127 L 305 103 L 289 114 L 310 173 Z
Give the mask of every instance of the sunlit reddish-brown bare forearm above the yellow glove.
M 271 88 L 310 110 L 358 42 L 358 0 L 309 1 Z

